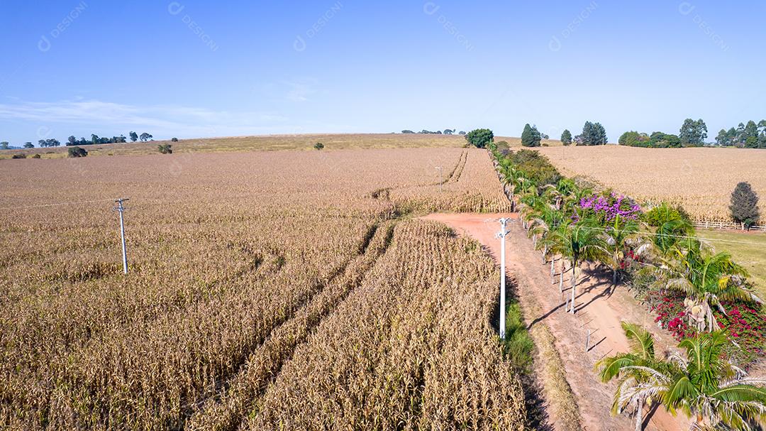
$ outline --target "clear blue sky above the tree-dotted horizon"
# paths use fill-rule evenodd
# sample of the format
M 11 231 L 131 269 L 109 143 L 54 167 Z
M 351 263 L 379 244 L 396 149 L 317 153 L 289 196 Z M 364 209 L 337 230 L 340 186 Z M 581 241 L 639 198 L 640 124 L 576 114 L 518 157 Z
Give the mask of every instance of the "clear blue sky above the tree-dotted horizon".
M 766 117 L 764 2 L 3 2 L 0 140 L 678 133 Z

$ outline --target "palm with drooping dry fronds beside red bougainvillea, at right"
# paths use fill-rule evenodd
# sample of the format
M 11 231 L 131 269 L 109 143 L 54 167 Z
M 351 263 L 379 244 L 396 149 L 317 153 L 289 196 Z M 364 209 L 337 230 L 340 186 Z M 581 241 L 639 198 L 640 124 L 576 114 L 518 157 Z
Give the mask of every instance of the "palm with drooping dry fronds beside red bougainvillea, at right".
M 758 300 L 745 287 L 748 271 L 735 263 L 732 255 L 714 253 L 702 247 L 699 240 L 686 240 L 685 245 L 674 246 L 669 257 L 662 259 L 658 283 L 663 288 L 686 294 L 689 318 L 696 320 L 698 331 L 710 332 L 718 327 L 712 308 L 725 314 L 721 301 Z

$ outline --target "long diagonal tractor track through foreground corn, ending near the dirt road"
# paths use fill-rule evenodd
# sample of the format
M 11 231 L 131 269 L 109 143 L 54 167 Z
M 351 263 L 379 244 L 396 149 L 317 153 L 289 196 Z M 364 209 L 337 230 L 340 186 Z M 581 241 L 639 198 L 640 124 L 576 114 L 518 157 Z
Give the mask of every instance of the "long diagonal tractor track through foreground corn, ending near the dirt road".
M 394 225 L 393 221 L 373 225 L 360 244 L 359 254 L 300 309 L 273 327 L 264 343 L 237 368 L 237 373 L 222 379 L 214 394 L 186 406 L 184 422 L 178 429 L 237 429 L 245 413 L 257 405 L 268 384 L 279 377 L 296 348 L 306 342 L 385 255 L 394 235 Z

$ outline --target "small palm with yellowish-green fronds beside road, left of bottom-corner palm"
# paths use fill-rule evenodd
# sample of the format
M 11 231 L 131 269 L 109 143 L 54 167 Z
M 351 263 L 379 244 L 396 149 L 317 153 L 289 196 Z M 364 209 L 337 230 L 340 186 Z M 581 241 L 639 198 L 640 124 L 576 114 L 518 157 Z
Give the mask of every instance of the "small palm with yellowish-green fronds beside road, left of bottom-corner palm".
M 637 324 L 621 322 L 630 344 L 628 353 L 605 357 L 596 363 L 598 377 L 607 383 L 617 377 L 612 414 L 620 414 L 627 406 L 633 406 L 636 415 L 636 431 L 643 427 L 643 406 L 648 394 L 636 390 L 650 383 L 651 373 L 639 367 L 661 368 L 663 365 L 654 355 L 654 338 L 649 331 Z M 626 394 L 630 394 L 626 396 Z

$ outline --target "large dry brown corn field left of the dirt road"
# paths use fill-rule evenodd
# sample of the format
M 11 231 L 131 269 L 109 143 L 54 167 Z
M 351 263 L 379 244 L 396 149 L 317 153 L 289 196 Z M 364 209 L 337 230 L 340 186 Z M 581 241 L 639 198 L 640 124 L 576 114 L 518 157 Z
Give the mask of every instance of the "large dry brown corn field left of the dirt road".
M 499 271 L 408 217 L 507 211 L 483 150 L 4 160 L 0 180 L 2 429 L 524 426 Z

